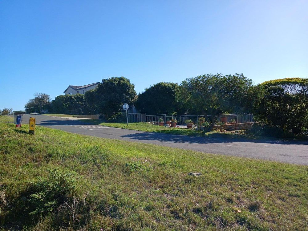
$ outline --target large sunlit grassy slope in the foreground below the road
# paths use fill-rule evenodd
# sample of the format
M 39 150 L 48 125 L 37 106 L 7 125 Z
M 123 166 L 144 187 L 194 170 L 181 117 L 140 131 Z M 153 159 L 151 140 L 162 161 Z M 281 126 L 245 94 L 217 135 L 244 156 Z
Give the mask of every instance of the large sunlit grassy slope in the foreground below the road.
M 307 166 L 27 131 L 0 124 L 3 229 L 307 230 Z

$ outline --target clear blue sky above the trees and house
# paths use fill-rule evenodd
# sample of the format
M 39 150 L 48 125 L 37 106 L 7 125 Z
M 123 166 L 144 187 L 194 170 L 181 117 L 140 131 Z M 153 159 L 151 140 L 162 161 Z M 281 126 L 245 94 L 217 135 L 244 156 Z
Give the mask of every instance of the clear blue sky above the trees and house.
M 307 12 L 307 0 L 2 0 L 0 108 L 112 76 L 137 93 L 208 73 L 308 78 Z

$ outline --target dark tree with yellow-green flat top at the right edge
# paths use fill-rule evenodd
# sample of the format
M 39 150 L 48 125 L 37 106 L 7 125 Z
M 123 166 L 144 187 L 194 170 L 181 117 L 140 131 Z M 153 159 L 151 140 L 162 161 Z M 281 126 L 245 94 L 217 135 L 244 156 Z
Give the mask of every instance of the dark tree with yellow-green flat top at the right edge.
M 261 97 L 255 104 L 255 118 L 270 128 L 299 134 L 308 127 L 308 79 L 286 78 L 259 85 Z

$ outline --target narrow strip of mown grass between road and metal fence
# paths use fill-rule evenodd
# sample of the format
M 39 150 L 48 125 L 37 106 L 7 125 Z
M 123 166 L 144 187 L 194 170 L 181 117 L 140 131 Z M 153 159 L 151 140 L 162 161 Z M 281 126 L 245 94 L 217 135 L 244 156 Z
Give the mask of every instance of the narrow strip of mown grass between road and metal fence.
M 85 121 L 85 120 L 80 120 Z M 253 136 L 251 133 L 246 133 L 241 130 L 237 133 L 231 132 L 204 132 L 198 131 L 195 129 L 187 129 L 187 128 L 170 128 L 164 126 L 157 126 L 149 123 L 137 122 L 137 123 L 129 123 L 128 126 L 126 123 L 106 123 L 102 122 L 102 120 L 91 120 L 85 121 L 93 124 L 100 124 L 103 126 L 109 126 L 114 128 L 124 128 L 130 130 L 144 131 L 144 132 L 159 132 L 165 134 L 174 134 L 174 135 L 186 135 L 186 136 L 205 136 L 205 137 L 224 137 L 224 138 L 249 138 L 249 139 L 258 139 L 259 137 Z M 259 138 L 260 139 L 260 138 Z

